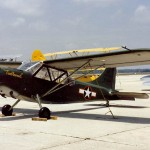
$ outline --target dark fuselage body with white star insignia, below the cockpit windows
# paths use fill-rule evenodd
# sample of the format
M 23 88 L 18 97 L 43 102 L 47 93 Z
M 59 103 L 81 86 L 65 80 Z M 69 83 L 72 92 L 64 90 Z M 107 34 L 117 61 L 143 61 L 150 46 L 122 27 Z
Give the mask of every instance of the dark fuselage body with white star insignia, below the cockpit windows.
M 72 81 L 65 86 L 59 84 L 55 91 L 43 96 L 56 85 L 58 85 L 56 81 L 41 79 L 27 71 L 0 68 L 0 93 L 2 96 L 32 101 L 32 98 L 38 94 L 41 100 L 51 103 L 71 103 L 104 99 L 104 96 L 109 97 L 109 89 L 79 81 Z

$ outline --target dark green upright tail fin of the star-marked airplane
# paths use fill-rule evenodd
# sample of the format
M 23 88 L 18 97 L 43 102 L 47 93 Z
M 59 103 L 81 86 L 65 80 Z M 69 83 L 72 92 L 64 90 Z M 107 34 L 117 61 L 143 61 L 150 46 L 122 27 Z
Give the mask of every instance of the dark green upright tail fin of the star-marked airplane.
M 104 72 L 96 80 L 91 83 L 104 86 L 108 89 L 115 90 L 116 68 L 106 68 Z

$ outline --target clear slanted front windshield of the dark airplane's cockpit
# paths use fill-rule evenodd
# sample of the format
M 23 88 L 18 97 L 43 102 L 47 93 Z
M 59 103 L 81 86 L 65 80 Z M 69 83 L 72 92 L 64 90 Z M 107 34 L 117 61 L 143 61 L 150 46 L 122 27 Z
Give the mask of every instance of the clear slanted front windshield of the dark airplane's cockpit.
M 23 71 L 31 72 L 32 74 L 35 73 L 40 67 L 42 66 L 41 62 L 23 62 L 18 69 Z

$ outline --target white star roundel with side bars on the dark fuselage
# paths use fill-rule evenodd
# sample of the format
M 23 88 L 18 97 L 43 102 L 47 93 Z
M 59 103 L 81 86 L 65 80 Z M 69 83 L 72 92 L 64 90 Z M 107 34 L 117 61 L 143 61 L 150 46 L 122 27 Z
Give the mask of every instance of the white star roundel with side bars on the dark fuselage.
M 93 92 L 90 86 L 87 86 L 84 89 L 79 89 L 79 93 L 82 94 L 86 100 L 96 97 L 96 92 Z

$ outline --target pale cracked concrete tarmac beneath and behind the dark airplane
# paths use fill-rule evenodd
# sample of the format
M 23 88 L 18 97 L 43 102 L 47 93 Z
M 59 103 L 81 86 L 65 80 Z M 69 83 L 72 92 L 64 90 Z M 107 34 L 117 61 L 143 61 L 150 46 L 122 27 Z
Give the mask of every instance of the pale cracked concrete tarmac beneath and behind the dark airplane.
M 120 91 L 149 93 L 141 75 L 117 77 Z M 13 104 L 0 98 L 0 106 Z M 32 121 L 36 103 L 21 101 L 16 116 L 0 117 L 0 149 L 3 150 L 148 150 L 150 149 L 150 99 L 77 104 L 44 104 L 57 120 Z

